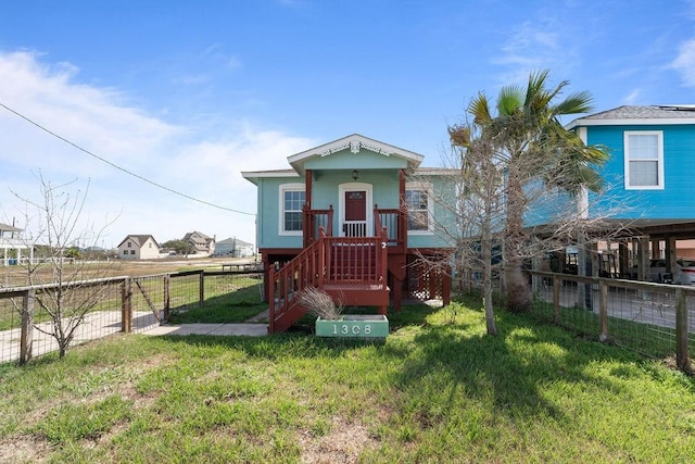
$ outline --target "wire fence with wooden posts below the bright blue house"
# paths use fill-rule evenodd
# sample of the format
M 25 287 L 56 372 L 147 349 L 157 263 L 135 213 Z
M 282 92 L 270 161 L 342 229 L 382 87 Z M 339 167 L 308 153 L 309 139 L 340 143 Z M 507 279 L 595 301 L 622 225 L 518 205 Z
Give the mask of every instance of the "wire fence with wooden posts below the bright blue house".
M 578 333 L 690 368 L 695 288 L 532 272 L 532 314 Z

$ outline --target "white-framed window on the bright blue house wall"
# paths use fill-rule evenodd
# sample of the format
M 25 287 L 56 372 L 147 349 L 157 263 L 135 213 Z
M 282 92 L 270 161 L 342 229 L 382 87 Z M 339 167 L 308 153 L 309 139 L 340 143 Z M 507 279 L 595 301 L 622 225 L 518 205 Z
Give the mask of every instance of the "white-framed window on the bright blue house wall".
M 664 189 L 664 133 L 634 130 L 624 133 L 626 189 Z

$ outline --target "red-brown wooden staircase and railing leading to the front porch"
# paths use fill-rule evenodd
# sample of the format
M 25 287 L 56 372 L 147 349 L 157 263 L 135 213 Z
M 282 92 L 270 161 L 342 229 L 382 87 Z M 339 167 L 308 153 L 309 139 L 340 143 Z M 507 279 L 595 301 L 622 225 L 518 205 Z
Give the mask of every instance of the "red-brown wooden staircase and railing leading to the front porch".
M 268 331 L 285 331 L 306 313 L 295 298 L 306 287 L 326 291 L 337 303 L 378 306 L 386 314 L 387 243 L 386 227 L 376 237 L 332 237 L 320 227 L 317 240 L 280 269 L 269 269 Z

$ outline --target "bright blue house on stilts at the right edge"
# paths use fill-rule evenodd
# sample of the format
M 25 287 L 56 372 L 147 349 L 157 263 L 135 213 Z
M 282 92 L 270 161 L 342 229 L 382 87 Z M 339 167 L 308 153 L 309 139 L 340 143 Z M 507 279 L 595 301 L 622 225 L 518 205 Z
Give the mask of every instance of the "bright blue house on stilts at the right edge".
M 619 106 L 567 128 L 611 154 L 602 172 L 606 190 L 587 201 L 590 216 L 629 226 L 619 274 L 636 263 L 646 279 L 649 259 L 659 258 L 672 273 L 677 240 L 695 238 L 695 105 Z

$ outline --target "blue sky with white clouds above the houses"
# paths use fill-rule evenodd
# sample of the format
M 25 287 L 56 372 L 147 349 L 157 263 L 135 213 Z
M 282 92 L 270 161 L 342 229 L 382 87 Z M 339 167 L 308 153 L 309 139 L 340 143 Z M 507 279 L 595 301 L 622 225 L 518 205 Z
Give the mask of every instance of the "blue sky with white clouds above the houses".
M 529 72 L 595 111 L 695 103 L 695 2 L 0 0 L 0 222 L 36 176 L 90 183 L 85 227 L 254 241 L 241 171 L 359 133 L 441 164 L 479 91 Z M 14 193 L 13 193 L 14 192 Z M 236 210 L 241 213 L 237 213 Z M 251 214 L 242 214 L 251 213 Z

